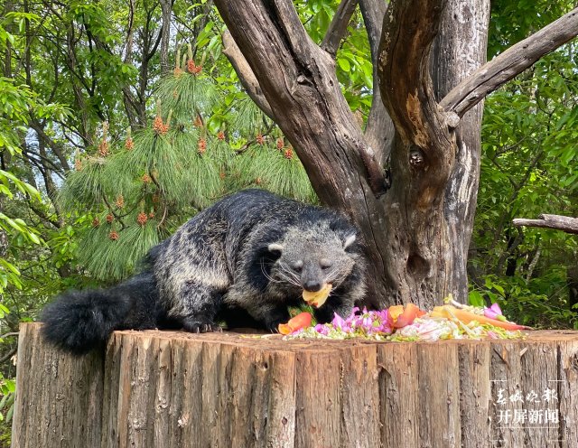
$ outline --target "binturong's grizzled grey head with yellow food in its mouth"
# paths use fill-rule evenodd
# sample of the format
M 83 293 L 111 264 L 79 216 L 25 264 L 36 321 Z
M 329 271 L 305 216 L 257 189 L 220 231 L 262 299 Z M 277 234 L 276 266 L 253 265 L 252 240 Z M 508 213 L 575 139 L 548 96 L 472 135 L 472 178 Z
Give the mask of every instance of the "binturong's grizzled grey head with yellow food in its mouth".
M 303 294 L 315 307 L 327 300 L 331 289 L 339 287 L 350 275 L 359 258 L 356 230 L 331 229 L 327 222 L 311 227 L 287 229 L 282 241 L 269 245 L 277 257 L 271 279 L 283 287 Z

